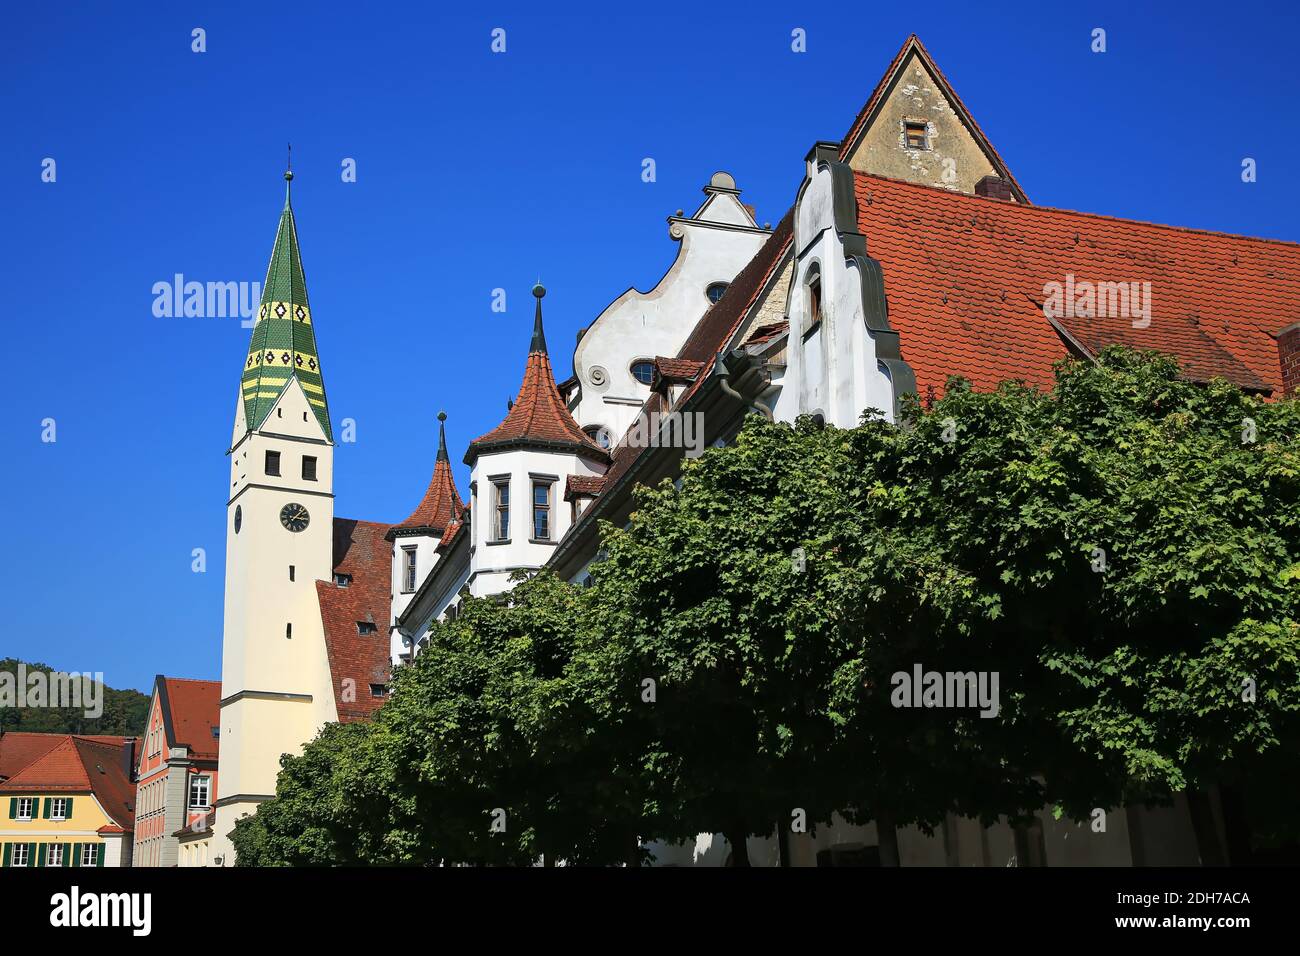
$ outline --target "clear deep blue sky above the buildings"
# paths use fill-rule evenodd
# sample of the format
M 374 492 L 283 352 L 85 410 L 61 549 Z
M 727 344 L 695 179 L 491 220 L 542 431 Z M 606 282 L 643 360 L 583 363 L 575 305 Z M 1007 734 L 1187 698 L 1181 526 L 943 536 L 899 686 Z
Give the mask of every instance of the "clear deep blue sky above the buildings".
M 727 169 L 779 220 L 809 147 L 846 131 L 910 33 L 1034 202 L 1300 239 L 1300 30 L 1282 4 L 532 7 L 6 8 L 0 657 L 140 689 L 220 676 L 248 329 L 155 317 L 151 289 L 261 281 L 286 140 L 335 428 L 358 423 L 337 514 L 385 522 L 424 490 L 439 408 L 464 492 L 465 444 L 517 388 L 538 276 L 563 377 L 577 329 L 671 263 L 664 217 Z

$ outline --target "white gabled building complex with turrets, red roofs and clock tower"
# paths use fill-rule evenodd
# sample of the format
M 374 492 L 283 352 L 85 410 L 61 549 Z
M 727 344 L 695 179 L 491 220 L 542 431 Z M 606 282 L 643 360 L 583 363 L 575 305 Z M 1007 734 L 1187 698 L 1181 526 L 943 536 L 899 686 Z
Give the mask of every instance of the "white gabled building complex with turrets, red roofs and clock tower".
M 542 567 L 584 581 L 598 523 L 625 524 L 636 485 L 677 477 L 688 450 L 727 444 L 749 415 L 898 421 L 905 395 L 931 402 L 950 375 L 980 389 L 1008 378 L 1048 388 L 1056 360 L 1091 360 L 1110 343 L 1170 352 L 1195 378 L 1265 395 L 1295 385 L 1300 290 L 1274 280 L 1300 273 L 1300 246 L 1034 206 L 915 36 L 848 133 L 814 142 L 802 166 L 797 159 L 802 181 L 775 229 L 757 225 L 729 174 L 715 174 L 696 213 L 670 219 L 681 243 L 673 265 L 654 290 L 625 291 L 593 320 L 559 382 L 545 290 L 534 289 L 520 390 L 502 423 L 469 442 L 467 497 L 439 428 L 424 497 L 391 527 L 330 514 L 328 407 L 286 203 L 231 447 L 221 691 L 231 796 L 218 801 L 218 835 L 272 792 L 280 753 L 325 721 L 373 713 L 387 669 L 417 654 L 430 622 L 454 617 L 463 596 L 502 592 L 515 572 Z M 1074 277 L 1114 291 L 1141 278 L 1124 272 L 1139 260 L 1160 280 L 1157 323 L 1149 302 L 1147 321 L 1140 307 L 1060 313 L 1045 302 L 1053 282 Z M 689 441 L 686 421 L 699 427 Z M 308 455 L 318 458 L 309 488 L 296 466 Z M 332 550 L 304 533 L 316 523 L 333 524 Z M 290 652 L 290 640 L 306 644 Z M 1102 839 L 1046 812 L 1015 829 L 952 818 L 933 836 L 836 818 L 784 847 L 775 834 L 751 839 L 749 856 L 1195 864 L 1204 857 L 1193 830 L 1222 836 L 1223 821 L 1214 795 L 1193 804 L 1118 808 Z M 716 834 L 654 851 L 667 865 L 731 853 Z

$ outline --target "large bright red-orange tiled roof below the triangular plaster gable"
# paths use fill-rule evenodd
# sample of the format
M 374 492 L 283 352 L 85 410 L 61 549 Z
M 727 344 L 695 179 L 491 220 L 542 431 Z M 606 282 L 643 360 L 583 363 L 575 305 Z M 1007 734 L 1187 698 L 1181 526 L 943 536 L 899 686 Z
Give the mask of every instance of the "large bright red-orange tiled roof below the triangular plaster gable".
M 949 375 L 1050 388 L 1075 345 L 1179 359 L 1188 377 L 1278 392 L 1275 333 L 1300 315 L 1300 246 L 1024 206 L 854 174 L 858 228 L 884 273 L 889 324 L 923 397 Z M 1150 323 L 1044 315 L 1045 286 L 1149 282 Z M 1140 324 L 1140 319 L 1138 319 Z

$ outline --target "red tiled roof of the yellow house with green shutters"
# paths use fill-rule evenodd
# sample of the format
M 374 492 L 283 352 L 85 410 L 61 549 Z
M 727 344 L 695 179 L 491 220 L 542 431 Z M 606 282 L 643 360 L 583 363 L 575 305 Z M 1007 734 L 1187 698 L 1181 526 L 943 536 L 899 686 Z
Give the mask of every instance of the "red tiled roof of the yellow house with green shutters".
M 8 735 L 6 735 L 8 736 Z M 0 783 L 5 793 L 94 793 L 124 830 L 135 825 L 133 737 L 52 734 L 55 745 Z

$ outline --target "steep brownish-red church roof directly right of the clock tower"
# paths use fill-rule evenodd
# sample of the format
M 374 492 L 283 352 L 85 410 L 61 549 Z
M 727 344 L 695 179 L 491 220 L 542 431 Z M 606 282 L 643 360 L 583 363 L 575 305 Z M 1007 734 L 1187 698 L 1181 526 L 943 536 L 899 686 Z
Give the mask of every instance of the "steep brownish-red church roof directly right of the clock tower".
M 343 588 L 334 581 L 316 581 L 342 723 L 378 710 L 384 698 L 370 695 L 370 684 L 389 682 L 393 548 L 385 540 L 387 531 L 387 524 L 335 518 L 334 572 L 351 575 L 352 583 Z M 373 623 L 374 632 L 360 633 L 360 622 Z

